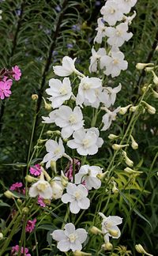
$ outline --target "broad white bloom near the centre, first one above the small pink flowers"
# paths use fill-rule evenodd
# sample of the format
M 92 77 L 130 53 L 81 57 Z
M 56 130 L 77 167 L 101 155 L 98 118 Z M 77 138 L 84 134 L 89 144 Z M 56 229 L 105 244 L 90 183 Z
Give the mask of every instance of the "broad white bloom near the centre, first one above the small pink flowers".
M 81 128 L 73 133 L 73 140 L 68 141 L 67 145 L 70 149 L 77 149 L 81 156 L 95 155 L 101 146 L 100 142 L 103 144 L 98 134 L 96 130 L 84 130 L 84 128 Z

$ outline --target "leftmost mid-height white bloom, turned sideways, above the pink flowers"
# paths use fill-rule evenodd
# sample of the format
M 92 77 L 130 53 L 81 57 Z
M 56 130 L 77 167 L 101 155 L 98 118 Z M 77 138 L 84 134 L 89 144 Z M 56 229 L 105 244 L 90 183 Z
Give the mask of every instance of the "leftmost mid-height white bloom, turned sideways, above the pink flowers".
M 48 140 L 46 142 L 46 150 L 47 154 L 43 158 L 43 163 L 46 163 L 46 168 L 50 168 L 51 166 L 51 161 L 56 161 L 59 158 L 61 158 L 65 152 L 64 146 L 62 144 L 61 138 L 59 138 L 59 141 L 53 141 L 53 140 Z

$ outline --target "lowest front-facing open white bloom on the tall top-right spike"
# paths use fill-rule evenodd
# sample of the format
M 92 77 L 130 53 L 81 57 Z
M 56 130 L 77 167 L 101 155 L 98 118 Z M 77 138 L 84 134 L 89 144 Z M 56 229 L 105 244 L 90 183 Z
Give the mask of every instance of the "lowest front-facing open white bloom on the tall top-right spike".
M 111 52 L 111 56 L 103 56 L 100 59 L 100 67 L 106 67 L 103 71 L 107 76 L 111 74 L 111 77 L 118 77 L 121 70 L 126 70 L 128 62 L 124 60 L 125 55 L 121 51 Z

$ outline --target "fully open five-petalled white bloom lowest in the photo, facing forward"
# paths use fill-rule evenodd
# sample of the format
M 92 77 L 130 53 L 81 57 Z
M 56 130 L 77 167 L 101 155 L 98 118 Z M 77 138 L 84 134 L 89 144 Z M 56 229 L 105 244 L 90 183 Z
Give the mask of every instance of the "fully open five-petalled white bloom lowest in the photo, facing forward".
M 77 228 L 72 223 L 67 223 L 64 230 L 57 229 L 51 233 L 52 238 L 58 241 L 57 248 L 61 251 L 81 250 L 81 244 L 87 239 L 84 228 Z

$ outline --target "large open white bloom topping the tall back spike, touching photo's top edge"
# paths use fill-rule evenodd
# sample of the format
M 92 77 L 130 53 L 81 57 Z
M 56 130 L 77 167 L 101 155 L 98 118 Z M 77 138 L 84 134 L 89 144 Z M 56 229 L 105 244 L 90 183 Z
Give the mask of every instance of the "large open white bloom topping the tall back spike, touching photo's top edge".
M 116 22 L 121 21 L 123 17 L 122 9 L 117 0 L 107 1 L 101 8 L 100 13 L 103 15 L 103 20 L 107 21 L 110 26 L 114 26 Z

